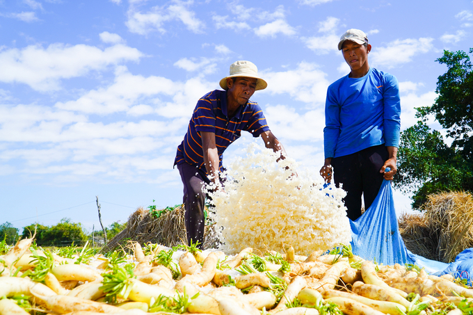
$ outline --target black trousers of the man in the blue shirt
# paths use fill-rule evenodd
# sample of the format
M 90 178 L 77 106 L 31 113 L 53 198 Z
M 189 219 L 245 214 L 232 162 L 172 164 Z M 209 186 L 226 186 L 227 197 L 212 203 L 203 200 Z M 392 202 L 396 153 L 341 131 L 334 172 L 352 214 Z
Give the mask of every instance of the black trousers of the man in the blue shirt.
M 374 202 L 384 179 L 379 171 L 388 158 L 385 145 L 376 145 L 332 159 L 335 185 L 346 191 L 344 203 L 351 220 L 361 216 L 362 195 L 364 209 Z

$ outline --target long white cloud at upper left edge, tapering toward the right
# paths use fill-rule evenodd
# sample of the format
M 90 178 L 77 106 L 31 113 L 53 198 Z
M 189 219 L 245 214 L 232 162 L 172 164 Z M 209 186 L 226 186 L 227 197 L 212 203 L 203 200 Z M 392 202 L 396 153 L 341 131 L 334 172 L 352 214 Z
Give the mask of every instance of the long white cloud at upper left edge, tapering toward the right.
M 25 83 L 39 91 L 58 90 L 61 79 L 83 76 L 107 65 L 138 61 L 138 49 L 114 45 L 101 50 L 88 45 L 51 44 L 0 51 L 0 81 Z

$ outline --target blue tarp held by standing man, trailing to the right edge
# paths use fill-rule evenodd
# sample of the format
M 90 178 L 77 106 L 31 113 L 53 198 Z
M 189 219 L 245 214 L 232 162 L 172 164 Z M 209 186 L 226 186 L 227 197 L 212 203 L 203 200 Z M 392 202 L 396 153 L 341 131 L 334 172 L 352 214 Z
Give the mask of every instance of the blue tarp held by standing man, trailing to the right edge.
M 425 268 L 428 273 L 435 275 L 450 273 L 455 277 L 467 279 L 469 284 L 472 282 L 473 248 L 458 254 L 451 264 L 426 259 L 412 254 L 406 248 L 399 234 L 390 181 L 383 181 L 371 207 L 357 220 L 350 220 L 350 225 L 354 255 L 376 261 L 377 264 L 415 264 Z

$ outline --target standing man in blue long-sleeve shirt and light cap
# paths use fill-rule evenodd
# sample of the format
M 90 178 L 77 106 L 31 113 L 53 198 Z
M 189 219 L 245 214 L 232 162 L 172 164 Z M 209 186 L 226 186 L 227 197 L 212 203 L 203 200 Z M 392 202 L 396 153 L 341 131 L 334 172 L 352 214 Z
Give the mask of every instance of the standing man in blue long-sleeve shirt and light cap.
M 361 196 L 368 209 L 383 179 L 396 174 L 401 104 L 395 76 L 369 67 L 371 45 L 367 35 L 349 29 L 338 49 L 351 72 L 328 87 L 326 127 L 323 129 L 325 163 L 321 176 L 346 191 L 347 216 L 361 216 Z M 389 167 L 390 172 L 385 172 Z M 333 169 L 332 169 L 333 168 Z

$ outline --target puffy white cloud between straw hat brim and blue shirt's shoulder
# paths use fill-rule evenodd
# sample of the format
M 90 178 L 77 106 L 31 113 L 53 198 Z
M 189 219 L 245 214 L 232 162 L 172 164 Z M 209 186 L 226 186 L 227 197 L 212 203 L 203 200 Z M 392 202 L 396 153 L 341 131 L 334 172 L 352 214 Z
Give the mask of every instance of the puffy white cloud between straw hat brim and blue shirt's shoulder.
M 288 94 L 306 104 L 324 104 L 327 94 L 327 74 L 315 63 L 299 63 L 294 70 L 284 72 L 262 71 L 268 88 L 260 93 Z

